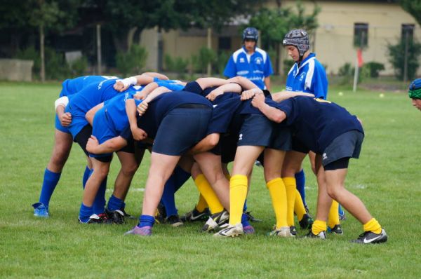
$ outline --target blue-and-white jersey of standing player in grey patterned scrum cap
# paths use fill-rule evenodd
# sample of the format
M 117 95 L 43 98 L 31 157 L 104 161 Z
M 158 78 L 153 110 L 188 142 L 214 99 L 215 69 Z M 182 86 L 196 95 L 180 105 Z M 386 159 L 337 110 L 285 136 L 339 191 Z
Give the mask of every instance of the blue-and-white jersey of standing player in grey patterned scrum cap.
M 311 93 L 314 97 L 326 100 L 328 95 L 328 77 L 316 54 L 310 53 L 302 60 L 300 67 L 293 64 L 286 78 L 286 90 Z

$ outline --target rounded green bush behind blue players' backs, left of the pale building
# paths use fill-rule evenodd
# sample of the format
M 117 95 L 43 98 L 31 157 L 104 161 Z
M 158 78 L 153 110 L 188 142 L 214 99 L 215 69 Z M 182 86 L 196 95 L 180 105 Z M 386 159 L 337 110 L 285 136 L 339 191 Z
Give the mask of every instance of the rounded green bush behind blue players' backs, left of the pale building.
M 147 50 L 142 46 L 133 44 L 126 53 L 117 51 L 116 67 L 123 76 L 139 74 L 145 67 L 146 60 Z

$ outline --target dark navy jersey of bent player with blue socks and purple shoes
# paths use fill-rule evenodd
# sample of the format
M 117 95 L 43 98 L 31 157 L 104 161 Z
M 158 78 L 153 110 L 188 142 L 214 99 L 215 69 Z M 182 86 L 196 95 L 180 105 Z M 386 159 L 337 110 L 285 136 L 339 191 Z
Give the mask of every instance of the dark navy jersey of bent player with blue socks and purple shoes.
M 206 98 L 187 91 L 173 91 L 164 93 L 149 102 L 146 113 L 138 117 L 138 127 L 147 132 L 148 137 L 154 139 L 162 119 L 169 111 L 183 104 L 203 104 L 212 108 Z M 127 129 L 126 129 L 127 130 Z

